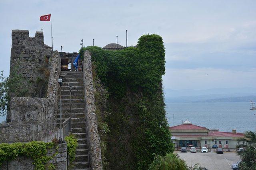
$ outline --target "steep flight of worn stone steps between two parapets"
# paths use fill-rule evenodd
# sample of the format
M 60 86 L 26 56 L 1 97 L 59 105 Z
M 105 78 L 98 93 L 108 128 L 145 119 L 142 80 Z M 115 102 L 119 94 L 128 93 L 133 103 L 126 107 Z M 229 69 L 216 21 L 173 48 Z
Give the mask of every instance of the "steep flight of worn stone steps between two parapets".
M 88 146 L 85 120 L 84 103 L 84 78 L 83 73 L 78 71 L 61 71 L 62 78 L 61 96 L 62 96 L 62 122 L 70 117 L 70 88 L 72 86 L 71 96 L 71 127 L 72 133 L 78 138 L 78 147 L 76 149 L 76 158 L 73 161 L 74 169 L 89 169 Z M 58 109 L 59 113 L 59 109 Z M 59 115 L 58 115 L 59 122 Z

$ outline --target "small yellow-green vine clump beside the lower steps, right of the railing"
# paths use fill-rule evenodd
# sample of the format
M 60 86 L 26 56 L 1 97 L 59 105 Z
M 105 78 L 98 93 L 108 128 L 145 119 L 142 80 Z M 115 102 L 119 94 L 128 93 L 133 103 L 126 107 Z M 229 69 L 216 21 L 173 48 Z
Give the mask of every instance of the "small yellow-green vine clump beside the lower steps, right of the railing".
M 75 159 L 78 141 L 77 141 L 75 135 L 73 135 L 73 134 L 66 136 L 65 141 L 67 143 L 68 161 L 71 164 L 73 162 L 73 160 Z

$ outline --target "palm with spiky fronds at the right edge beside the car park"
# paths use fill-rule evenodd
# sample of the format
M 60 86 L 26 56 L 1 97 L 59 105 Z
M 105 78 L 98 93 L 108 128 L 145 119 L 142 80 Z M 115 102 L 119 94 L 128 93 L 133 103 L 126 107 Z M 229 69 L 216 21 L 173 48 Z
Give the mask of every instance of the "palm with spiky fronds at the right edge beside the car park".
M 244 148 L 242 152 L 238 152 L 242 162 L 239 168 L 242 170 L 256 170 L 256 131 L 245 131 L 244 137 L 238 139 L 243 142 L 243 145 L 238 145 L 237 148 Z

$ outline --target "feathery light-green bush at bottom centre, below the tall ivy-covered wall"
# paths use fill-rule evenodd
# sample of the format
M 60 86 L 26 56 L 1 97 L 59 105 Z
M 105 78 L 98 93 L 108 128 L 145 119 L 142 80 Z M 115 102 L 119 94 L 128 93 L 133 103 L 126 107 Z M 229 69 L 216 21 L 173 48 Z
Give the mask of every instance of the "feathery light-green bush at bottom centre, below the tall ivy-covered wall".
M 156 155 L 148 170 L 188 170 L 188 168 L 184 160 L 169 153 L 166 156 Z

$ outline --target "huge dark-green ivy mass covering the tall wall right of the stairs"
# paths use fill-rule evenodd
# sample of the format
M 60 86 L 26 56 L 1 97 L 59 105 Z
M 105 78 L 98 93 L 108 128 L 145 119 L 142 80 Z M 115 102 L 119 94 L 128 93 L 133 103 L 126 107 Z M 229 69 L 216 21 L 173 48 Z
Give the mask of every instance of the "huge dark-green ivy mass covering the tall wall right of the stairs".
M 108 93 L 108 104 L 98 110 L 102 102 L 96 98 L 100 134 L 104 135 L 105 127 L 108 129 L 103 138 L 108 163 L 105 168 L 148 169 L 153 154 L 166 156 L 173 152 L 162 91 L 162 37 L 142 35 L 137 47 L 122 50 L 85 50 L 90 51 L 93 72 Z M 96 88 L 96 93 L 101 92 Z

